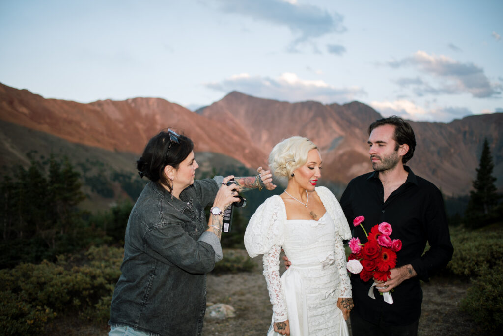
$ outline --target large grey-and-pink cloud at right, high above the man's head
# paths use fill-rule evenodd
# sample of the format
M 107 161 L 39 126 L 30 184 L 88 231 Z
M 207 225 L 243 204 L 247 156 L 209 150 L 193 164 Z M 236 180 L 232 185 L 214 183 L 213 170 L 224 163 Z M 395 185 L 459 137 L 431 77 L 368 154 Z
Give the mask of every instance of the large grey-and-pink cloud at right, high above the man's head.
M 497 87 L 489 83 L 484 71 L 473 63 L 461 63 L 447 56 L 429 55 L 416 51 L 412 56 L 387 63 L 391 68 L 415 66 L 425 74 L 443 80 L 436 93 L 457 94 L 468 92 L 476 98 L 487 98 L 499 95 Z M 428 91 L 424 91 L 428 92 Z

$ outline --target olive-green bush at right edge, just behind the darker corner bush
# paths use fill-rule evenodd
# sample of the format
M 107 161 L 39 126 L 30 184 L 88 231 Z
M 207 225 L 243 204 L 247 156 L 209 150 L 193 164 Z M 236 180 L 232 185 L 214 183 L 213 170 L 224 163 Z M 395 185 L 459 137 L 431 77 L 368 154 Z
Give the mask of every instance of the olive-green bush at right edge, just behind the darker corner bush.
M 480 267 L 491 268 L 503 260 L 503 231 L 461 228 L 451 230 L 454 255 L 447 265 L 452 274 L 466 279 L 478 277 Z

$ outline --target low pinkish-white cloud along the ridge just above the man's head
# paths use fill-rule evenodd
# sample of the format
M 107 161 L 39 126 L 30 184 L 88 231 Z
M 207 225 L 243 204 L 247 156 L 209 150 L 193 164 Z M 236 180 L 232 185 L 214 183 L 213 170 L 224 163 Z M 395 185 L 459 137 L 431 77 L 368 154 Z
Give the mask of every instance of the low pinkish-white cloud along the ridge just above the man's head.
M 450 122 L 453 119 L 472 114 L 472 112 L 465 107 L 442 107 L 426 110 L 404 99 L 395 100 L 393 102 L 374 101 L 370 103 L 370 106 L 383 116 L 398 115 L 404 119 L 414 121 Z

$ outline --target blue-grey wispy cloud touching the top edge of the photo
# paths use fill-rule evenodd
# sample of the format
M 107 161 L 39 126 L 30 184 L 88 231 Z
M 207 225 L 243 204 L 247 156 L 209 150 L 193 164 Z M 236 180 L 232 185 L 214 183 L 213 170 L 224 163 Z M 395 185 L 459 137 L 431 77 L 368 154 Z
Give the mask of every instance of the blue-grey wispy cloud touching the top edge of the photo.
M 261 20 L 278 26 L 286 26 L 297 38 L 290 45 L 297 44 L 328 33 L 346 31 L 343 16 L 312 5 L 299 5 L 296 1 L 281 0 L 217 0 L 221 10 Z

